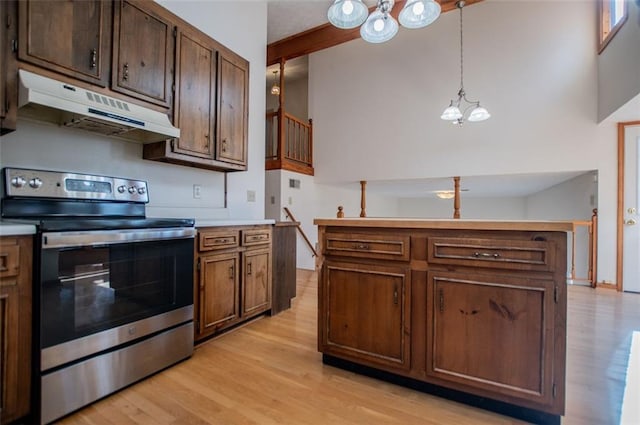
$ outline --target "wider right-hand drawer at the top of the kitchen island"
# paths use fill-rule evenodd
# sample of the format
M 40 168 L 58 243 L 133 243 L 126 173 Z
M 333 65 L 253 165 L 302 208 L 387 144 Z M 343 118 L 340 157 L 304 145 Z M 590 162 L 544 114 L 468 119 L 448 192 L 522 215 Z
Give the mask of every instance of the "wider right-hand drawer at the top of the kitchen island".
M 429 238 L 427 255 L 433 264 L 553 271 L 556 246 L 548 241 Z

